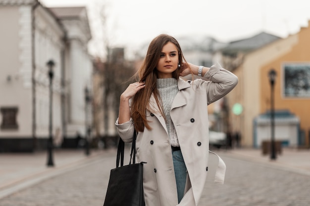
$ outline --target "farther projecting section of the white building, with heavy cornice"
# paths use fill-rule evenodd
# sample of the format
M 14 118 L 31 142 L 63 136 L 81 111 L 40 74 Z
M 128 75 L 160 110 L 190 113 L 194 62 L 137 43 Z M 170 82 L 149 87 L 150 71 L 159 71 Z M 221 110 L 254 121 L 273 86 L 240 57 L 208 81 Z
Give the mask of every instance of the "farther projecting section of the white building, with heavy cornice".
M 66 31 L 64 61 L 64 146 L 75 147 L 75 137 L 85 136 L 92 124 L 92 105 L 86 105 L 86 91 L 92 91 L 93 58 L 87 50 L 91 31 L 85 7 L 49 8 Z M 86 113 L 86 114 L 85 114 Z

